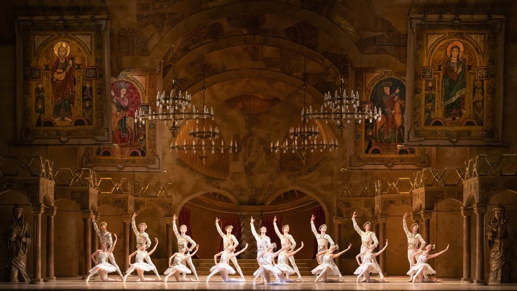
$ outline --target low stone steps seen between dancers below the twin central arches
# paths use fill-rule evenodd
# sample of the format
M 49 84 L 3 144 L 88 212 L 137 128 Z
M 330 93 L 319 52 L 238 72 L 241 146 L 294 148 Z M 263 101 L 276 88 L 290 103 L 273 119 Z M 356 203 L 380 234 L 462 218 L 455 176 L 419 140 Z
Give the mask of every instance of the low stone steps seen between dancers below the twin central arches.
M 194 263 L 197 274 L 200 276 L 205 276 L 210 273 L 210 268 L 214 266 L 214 259 L 193 259 L 192 263 Z M 253 275 L 253 272 L 258 269 L 258 263 L 256 259 L 238 259 L 238 263 L 242 273 L 244 273 L 245 276 Z M 230 266 L 235 269 L 232 261 L 230 261 Z M 296 266 L 298 266 L 298 270 L 300 270 L 302 276 L 311 276 L 311 270 L 317 266 L 317 263 L 316 260 L 312 259 L 296 259 Z M 237 271 L 237 269 L 235 269 L 235 271 Z M 238 276 L 238 273 L 236 272 L 235 275 Z M 296 273 L 291 275 L 291 277 L 293 279 L 297 278 Z

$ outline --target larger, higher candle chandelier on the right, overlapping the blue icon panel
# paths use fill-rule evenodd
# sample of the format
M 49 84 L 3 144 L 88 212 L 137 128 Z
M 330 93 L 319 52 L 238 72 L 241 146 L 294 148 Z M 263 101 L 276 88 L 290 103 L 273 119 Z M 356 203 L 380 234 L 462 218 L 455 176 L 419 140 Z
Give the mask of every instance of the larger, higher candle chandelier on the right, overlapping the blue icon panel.
M 381 121 L 381 109 L 379 108 L 377 111 L 377 107 L 373 107 L 372 102 L 361 101 L 357 91 L 355 93 L 352 91 L 351 95 L 347 95 L 346 90 L 343 90 L 343 83 L 343 76 L 341 76 L 339 93 L 337 90 L 333 96 L 330 92 L 326 93 L 320 112 L 313 111 L 310 106 L 309 110 L 306 108 L 301 110 L 301 117 L 309 120 L 325 120 L 326 123 L 331 120 L 336 123 L 340 136 L 343 136 L 343 130 L 351 121 L 358 123 L 361 123 L 362 120 Z

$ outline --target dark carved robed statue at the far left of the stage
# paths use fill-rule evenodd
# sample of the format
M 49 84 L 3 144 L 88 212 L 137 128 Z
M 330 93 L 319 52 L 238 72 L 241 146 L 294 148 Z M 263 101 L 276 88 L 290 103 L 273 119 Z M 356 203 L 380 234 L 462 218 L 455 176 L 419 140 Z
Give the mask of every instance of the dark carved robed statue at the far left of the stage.
M 27 275 L 27 252 L 31 245 L 31 229 L 23 218 L 23 208 L 15 205 L 12 219 L 6 229 L 9 281 L 18 282 L 21 276 L 24 282 L 31 281 Z

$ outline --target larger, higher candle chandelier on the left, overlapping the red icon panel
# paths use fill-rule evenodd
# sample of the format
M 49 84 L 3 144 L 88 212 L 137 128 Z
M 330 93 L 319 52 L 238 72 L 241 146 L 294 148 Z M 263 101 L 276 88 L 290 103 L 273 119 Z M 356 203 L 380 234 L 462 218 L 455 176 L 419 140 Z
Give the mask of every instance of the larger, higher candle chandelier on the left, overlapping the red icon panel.
M 208 109 L 204 102 L 201 110 L 196 109 L 192 105 L 192 96 L 188 92 L 182 93 L 176 88 L 176 80 L 174 79 L 174 46 L 172 46 L 172 81 L 171 91 L 169 95 L 165 95 L 165 91 L 158 93 L 156 96 L 156 110 L 150 109 L 149 105 L 140 105 L 139 110 L 135 112 L 134 122 L 145 124 L 149 122 L 162 122 L 167 125 L 172 136 L 176 137 L 183 121 L 211 118 L 214 120 L 214 109 Z

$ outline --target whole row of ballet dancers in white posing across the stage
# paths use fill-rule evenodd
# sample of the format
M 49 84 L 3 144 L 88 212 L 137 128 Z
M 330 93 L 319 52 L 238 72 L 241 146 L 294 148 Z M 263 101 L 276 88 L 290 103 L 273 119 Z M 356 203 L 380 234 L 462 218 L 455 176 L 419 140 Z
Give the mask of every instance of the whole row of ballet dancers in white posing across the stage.
M 162 280 L 158 270 L 156 269 L 156 266 L 153 264 L 153 261 L 151 261 L 150 258 L 150 255 L 155 252 L 156 247 L 158 246 L 158 238 L 155 238 L 156 243 L 153 249 L 147 251 L 151 245 L 149 235 L 147 232 L 145 232 L 147 225 L 145 223 L 140 223 L 137 228 L 135 217 L 136 213 L 134 213 L 131 217 L 131 227 L 133 228 L 134 234 L 136 236 L 136 251 L 129 255 L 129 261 L 131 261 L 131 257 L 133 256 L 135 259 L 134 263 L 130 264 L 129 268 L 126 270 L 126 275 L 123 276 L 120 268 L 115 262 L 115 257 L 113 256 L 113 251 L 115 249 L 115 245 L 117 244 L 117 235 L 113 234 L 115 240 L 112 240 L 112 234 L 107 230 L 108 224 L 101 222 L 99 226 L 97 226 L 97 223 L 95 222 L 95 216 L 92 215 L 92 223 L 100 238 L 101 249 L 97 250 L 91 255 L 92 260 L 96 265 L 89 270 L 86 282 L 88 282 L 89 279 L 97 272 L 99 272 L 102 282 L 126 282 L 128 276 L 134 270 L 136 270 L 136 273 L 138 274 L 138 279 L 136 281 L 140 282 L 168 282 L 171 275 L 174 276 L 177 282 L 199 282 L 199 277 L 197 276 L 196 269 L 192 263 L 192 256 L 195 255 L 197 250 L 199 250 L 200 245 L 196 244 L 196 242 L 190 236 L 186 235 L 187 226 L 181 225 L 178 231 L 176 226 L 177 217 L 176 215 L 173 216 L 173 230 L 177 238 L 178 252 L 169 258 L 169 268 L 166 269 L 163 273 L 165 275 L 165 279 Z M 354 274 L 357 275 L 356 282 L 389 282 L 389 280 L 384 278 L 381 267 L 377 264 L 376 261 L 376 257 L 383 253 L 388 247 L 388 240 L 386 240 L 386 244 L 384 245 L 383 249 L 378 252 L 374 252 L 378 245 L 378 240 L 375 236 L 375 232 L 370 230 L 371 223 L 364 223 L 364 230 L 362 230 L 357 225 L 355 217 L 356 213 L 354 212 L 352 215 L 352 223 L 354 225 L 354 229 L 361 237 L 361 250 L 360 253 L 355 257 L 357 264 L 359 265 L 359 267 L 354 271 Z M 409 280 L 407 280 L 407 282 L 415 283 L 417 279 L 422 283 L 439 282 L 440 280 L 433 280 L 429 278 L 429 275 L 435 274 L 436 271 L 428 264 L 428 260 L 446 252 L 449 249 L 449 245 L 447 245 L 445 250 L 431 254 L 431 251 L 434 250 L 434 245 L 426 244 L 422 236 L 418 233 L 417 223 L 412 224 L 410 229 L 408 229 L 406 224 L 406 217 L 407 213 L 405 213 L 403 216 L 402 226 L 407 236 L 407 259 L 409 261 L 409 271 L 407 272 L 409 275 Z M 337 281 L 341 282 L 343 281 L 343 276 L 341 275 L 339 268 L 336 266 L 336 264 L 334 264 L 334 259 L 350 250 L 352 244 L 348 244 L 347 249 L 338 253 L 334 253 L 338 251 L 339 246 L 335 244 L 332 241 L 332 238 L 326 233 L 327 226 L 325 224 L 321 225 L 316 230 L 314 219 L 315 216 L 312 215 L 310 223 L 311 230 L 317 241 L 316 260 L 318 263 L 318 266 L 311 271 L 314 275 L 316 275 L 314 282 L 336 282 L 334 280 L 328 279 L 328 275 L 338 276 Z M 260 234 L 257 234 L 253 223 L 254 219 L 251 217 L 251 232 L 257 244 L 256 259 L 259 268 L 253 273 L 254 278 L 252 284 L 256 285 L 259 278 L 261 278 L 262 283 L 270 285 L 284 285 L 291 282 L 303 282 L 304 280 L 301 277 L 300 271 L 298 270 L 296 261 L 294 259 L 294 255 L 303 248 L 303 242 L 301 242 L 300 247 L 296 249 L 296 241 L 294 240 L 293 236 L 289 234 L 289 225 L 284 225 L 282 227 L 282 232 L 280 232 L 277 226 L 277 217 L 274 217 L 273 226 L 277 236 L 280 238 L 281 243 L 279 250 L 276 251 L 276 243 L 271 243 L 270 238 L 266 236 L 266 227 L 261 227 Z M 219 225 L 219 219 L 216 218 L 216 229 L 219 232 L 219 235 L 223 238 L 223 251 L 217 253 L 214 256 L 215 265 L 210 268 L 210 274 L 206 277 L 205 280 L 206 283 L 208 283 L 210 278 L 217 273 L 221 275 L 221 278 L 224 282 L 245 282 L 244 274 L 242 274 L 242 270 L 240 269 L 236 257 L 248 248 L 248 244 L 246 244 L 246 246 L 240 251 L 235 252 L 239 242 L 237 241 L 237 238 L 232 235 L 233 226 L 226 226 L 224 228 L 226 234 L 224 234 L 224 232 L 221 230 L 221 226 Z M 189 244 L 190 247 L 188 246 Z M 219 263 L 217 262 L 218 257 L 220 257 Z M 276 257 L 278 257 L 277 263 L 275 263 Z M 108 263 L 108 260 L 111 264 Z M 185 265 L 184 261 L 189 264 L 190 269 Z M 237 270 L 230 266 L 230 261 L 232 261 Z M 291 263 L 292 267 L 289 266 L 289 262 Z M 115 271 L 120 276 L 120 279 L 113 279 L 108 277 L 108 273 Z M 145 271 L 153 271 L 156 274 L 157 279 L 145 278 Z M 238 272 L 240 275 L 239 279 L 229 278 L 229 275 L 233 275 L 236 272 Z M 186 278 L 186 275 L 190 273 L 193 273 L 195 279 Z M 289 278 L 290 275 L 295 273 L 298 275 L 297 281 Z M 380 280 L 377 281 L 370 278 L 371 273 L 378 273 Z M 183 277 L 181 277 L 180 274 L 183 274 Z M 275 281 L 271 280 L 271 276 L 275 278 Z

